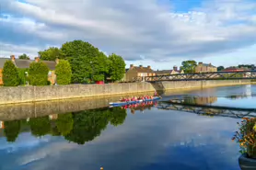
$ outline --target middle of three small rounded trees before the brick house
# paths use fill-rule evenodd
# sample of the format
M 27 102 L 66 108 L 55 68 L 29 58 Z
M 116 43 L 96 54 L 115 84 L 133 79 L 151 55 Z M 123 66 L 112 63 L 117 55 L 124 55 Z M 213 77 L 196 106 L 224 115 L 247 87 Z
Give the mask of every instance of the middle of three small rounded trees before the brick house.
M 29 84 L 48 85 L 49 68 L 44 62 L 31 62 L 29 65 Z

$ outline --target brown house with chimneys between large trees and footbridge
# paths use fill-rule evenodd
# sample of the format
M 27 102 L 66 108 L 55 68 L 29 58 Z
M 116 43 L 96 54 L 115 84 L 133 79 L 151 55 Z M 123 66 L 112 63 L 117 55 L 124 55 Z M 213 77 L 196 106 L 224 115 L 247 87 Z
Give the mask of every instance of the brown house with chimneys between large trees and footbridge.
M 151 69 L 151 66 L 143 67 L 140 66 L 134 66 L 134 64 L 130 65 L 130 68 L 126 70 L 125 73 L 125 81 L 130 82 L 134 81 L 134 78 L 136 77 L 145 77 L 145 76 L 155 76 L 155 72 Z

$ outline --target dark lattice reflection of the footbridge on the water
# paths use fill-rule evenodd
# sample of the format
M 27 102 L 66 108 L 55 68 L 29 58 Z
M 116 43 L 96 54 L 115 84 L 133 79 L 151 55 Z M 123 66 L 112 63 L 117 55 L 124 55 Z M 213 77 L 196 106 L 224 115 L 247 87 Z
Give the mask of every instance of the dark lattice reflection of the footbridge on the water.
M 256 118 L 256 108 L 229 108 L 197 104 L 184 104 L 172 101 L 158 102 L 158 109 L 191 112 L 202 116 L 220 116 L 229 118 Z

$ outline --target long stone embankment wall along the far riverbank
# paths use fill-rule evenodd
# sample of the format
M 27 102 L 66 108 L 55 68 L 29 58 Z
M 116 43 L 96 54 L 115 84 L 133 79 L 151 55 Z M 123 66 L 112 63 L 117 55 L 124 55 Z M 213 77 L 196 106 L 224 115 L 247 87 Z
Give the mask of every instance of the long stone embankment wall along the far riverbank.
M 122 94 L 135 94 L 153 92 L 155 90 L 179 90 L 192 88 L 205 88 L 211 86 L 245 85 L 248 80 L 228 81 L 179 81 L 107 84 L 107 85 L 49 85 L 49 86 L 18 86 L 1 87 L 0 104 L 35 102 L 45 100 L 59 100 L 66 98 L 115 96 Z

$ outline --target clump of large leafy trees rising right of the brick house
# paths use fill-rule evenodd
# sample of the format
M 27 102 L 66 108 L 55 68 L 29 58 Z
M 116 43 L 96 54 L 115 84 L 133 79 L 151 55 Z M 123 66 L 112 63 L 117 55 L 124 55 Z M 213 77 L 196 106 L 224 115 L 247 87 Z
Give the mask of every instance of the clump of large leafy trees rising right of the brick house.
M 39 51 L 41 60 L 55 61 L 63 59 L 70 62 L 72 69 L 71 83 L 90 83 L 122 80 L 125 74 L 125 62 L 121 56 L 112 53 L 105 55 L 98 48 L 83 40 L 66 42 L 60 49 L 51 47 Z

